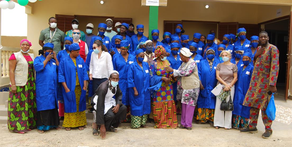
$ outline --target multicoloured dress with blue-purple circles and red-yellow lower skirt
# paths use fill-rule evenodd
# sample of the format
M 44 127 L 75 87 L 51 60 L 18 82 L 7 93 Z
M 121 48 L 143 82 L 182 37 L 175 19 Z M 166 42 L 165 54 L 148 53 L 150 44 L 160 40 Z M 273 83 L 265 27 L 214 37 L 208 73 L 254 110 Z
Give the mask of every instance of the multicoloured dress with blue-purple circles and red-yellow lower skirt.
M 176 117 L 176 106 L 173 100 L 173 86 L 171 85 L 176 81 L 172 72 L 166 72 L 165 67 L 170 67 L 168 60 L 158 62 L 153 60 L 150 64 L 150 76 L 157 75 L 161 77 L 171 77 L 171 82 L 165 85 L 162 82 L 159 90 L 155 91 L 152 95 L 151 109 L 155 122 L 154 128 L 176 128 L 178 120 Z

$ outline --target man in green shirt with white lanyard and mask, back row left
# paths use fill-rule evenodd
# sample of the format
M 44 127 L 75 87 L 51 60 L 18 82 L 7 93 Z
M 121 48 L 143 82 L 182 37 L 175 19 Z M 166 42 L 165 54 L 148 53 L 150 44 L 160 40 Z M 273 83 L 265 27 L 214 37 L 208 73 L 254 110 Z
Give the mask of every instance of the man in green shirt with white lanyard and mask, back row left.
M 39 35 L 39 45 L 44 46 L 45 43 L 53 43 L 54 51 L 58 54 L 64 44 L 65 33 L 57 28 L 57 20 L 55 17 L 49 19 L 49 27 L 42 30 Z

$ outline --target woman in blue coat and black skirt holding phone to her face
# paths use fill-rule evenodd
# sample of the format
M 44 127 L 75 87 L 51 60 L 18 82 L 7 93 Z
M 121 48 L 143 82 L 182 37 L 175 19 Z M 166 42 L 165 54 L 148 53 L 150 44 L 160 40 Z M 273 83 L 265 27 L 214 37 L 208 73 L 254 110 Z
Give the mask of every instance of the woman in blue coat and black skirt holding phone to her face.
M 44 130 L 59 127 L 58 114 L 58 78 L 57 71 L 59 61 L 56 53 L 53 52 L 54 44 L 46 43 L 39 55 L 34 59 L 34 70 L 36 71 L 36 108 L 37 128 L 39 133 Z

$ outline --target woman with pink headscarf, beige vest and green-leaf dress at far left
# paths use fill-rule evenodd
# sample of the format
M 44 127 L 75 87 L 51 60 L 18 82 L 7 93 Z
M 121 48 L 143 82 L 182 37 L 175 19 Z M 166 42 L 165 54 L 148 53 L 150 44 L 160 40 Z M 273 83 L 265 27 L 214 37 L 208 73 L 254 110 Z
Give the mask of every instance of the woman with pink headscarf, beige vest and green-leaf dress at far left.
M 20 51 L 9 58 L 8 129 L 20 134 L 36 127 L 34 54 L 28 53 L 31 46 L 27 39 L 21 40 Z

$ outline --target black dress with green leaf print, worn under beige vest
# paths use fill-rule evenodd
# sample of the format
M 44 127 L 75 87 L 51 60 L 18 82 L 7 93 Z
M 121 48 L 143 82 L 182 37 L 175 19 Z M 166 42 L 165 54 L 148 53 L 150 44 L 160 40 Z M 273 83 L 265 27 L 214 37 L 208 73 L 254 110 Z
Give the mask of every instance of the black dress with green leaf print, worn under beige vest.
M 30 56 L 24 56 L 28 63 L 27 83 L 16 86 L 16 93 L 9 87 L 8 98 L 8 129 L 14 132 L 27 132 L 36 128 L 36 99 L 34 80 L 34 61 Z M 16 60 L 14 54 L 9 58 Z

